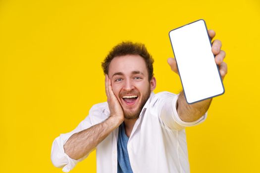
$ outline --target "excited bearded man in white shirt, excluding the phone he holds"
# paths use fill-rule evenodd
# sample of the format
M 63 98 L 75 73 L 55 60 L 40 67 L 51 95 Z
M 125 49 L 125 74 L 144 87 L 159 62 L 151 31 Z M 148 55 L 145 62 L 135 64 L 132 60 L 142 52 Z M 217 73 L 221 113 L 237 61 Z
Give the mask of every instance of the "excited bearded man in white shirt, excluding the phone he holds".
M 211 39 L 215 33 L 209 30 Z M 227 73 L 221 42 L 212 43 L 221 77 Z M 206 119 L 211 99 L 187 104 L 183 92 L 154 94 L 156 79 L 146 47 L 120 43 L 106 56 L 107 102 L 94 105 L 78 127 L 52 144 L 52 163 L 69 172 L 97 149 L 98 173 L 188 173 L 185 127 Z M 168 59 L 177 72 L 176 61 Z

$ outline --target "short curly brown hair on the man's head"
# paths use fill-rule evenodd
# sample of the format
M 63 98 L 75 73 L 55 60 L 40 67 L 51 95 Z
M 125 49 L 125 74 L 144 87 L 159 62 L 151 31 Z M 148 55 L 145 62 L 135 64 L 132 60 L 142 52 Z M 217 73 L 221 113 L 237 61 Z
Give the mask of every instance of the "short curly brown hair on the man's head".
M 115 45 L 112 50 L 105 57 L 102 62 L 102 68 L 104 71 L 104 75 L 108 74 L 109 64 L 112 59 L 116 56 L 124 56 L 124 55 L 140 55 L 144 58 L 146 62 L 146 67 L 148 69 L 149 81 L 151 81 L 154 76 L 154 59 L 152 55 L 147 51 L 145 44 L 143 43 L 133 43 L 133 42 L 121 42 Z

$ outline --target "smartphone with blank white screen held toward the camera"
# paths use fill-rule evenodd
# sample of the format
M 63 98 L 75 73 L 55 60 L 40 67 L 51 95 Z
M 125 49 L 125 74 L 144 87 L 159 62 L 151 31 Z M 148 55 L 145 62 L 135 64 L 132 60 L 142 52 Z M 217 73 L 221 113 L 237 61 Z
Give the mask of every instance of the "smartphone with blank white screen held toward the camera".
M 206 22 L 200 19 L 171 30 L 169 37 L 187 102 L 192 104 L 223 94 Z

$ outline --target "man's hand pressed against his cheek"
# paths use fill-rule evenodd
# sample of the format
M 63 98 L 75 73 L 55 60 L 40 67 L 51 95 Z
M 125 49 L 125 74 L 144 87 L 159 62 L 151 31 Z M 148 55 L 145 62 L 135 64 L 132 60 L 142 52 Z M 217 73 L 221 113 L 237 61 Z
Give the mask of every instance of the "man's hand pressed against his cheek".
M 108 75 L 105 75 L 105 94 L 107 97 L 110 117 L 116 118 L 122 123 L 124 121 L 124 112 L 112 90 L 111 80 L 108 78 Z

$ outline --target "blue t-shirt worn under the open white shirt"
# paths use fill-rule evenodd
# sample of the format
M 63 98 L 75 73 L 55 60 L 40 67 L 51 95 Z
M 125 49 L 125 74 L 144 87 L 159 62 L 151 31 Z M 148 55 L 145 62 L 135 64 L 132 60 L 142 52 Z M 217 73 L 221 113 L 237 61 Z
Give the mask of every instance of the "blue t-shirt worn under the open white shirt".
M 117 138 L 117 173 L 133 173 L 127 151 L 128 139 L 124 123 L 122 123 L 119 126 Z

